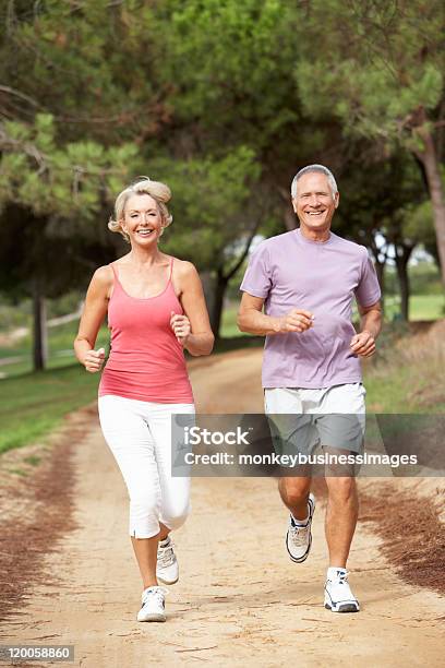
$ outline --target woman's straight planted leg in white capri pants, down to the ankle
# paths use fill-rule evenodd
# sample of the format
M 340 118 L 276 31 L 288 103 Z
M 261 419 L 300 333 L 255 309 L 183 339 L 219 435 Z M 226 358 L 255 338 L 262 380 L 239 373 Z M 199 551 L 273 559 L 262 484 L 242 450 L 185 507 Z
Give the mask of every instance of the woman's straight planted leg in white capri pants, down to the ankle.
M 99 397 L 104 437 L 115 455 L 130 496 L 129 533 L 144 588 L 157 585 L 160 486 L 155 443 L 146 424 L 146 402 Z

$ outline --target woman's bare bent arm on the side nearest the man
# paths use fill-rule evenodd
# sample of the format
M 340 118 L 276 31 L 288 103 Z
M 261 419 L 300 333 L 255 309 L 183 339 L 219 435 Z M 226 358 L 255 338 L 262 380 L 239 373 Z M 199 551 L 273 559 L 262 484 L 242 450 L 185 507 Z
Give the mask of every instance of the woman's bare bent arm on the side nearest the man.
M 215 337 L 208 320 L 203 286 L 191 262 L 176 262 L 173 281 L 185 315 L 171 314 L 170 324 L 181 345 L 190 355 L 209 355 Z

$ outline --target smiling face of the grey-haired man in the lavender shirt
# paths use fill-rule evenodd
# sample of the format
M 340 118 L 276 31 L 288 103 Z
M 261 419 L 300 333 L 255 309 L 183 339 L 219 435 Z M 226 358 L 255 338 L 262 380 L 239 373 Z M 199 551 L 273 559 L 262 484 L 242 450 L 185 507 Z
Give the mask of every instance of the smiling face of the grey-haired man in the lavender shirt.
M 297 182 L 292 205 L 303 228 L 314 232 L 326 231 L 338 206 L 338 192 L 333 194 L 326 175 L 309 171 Z

